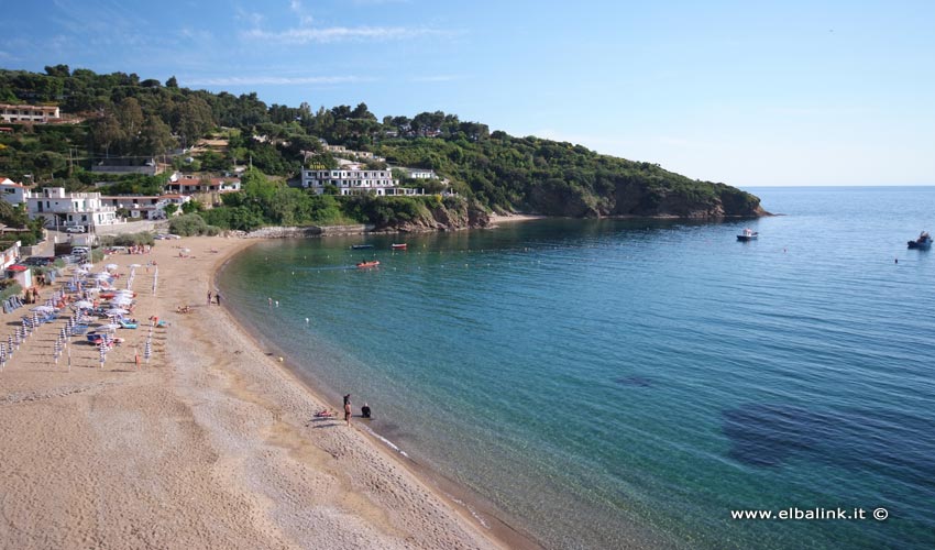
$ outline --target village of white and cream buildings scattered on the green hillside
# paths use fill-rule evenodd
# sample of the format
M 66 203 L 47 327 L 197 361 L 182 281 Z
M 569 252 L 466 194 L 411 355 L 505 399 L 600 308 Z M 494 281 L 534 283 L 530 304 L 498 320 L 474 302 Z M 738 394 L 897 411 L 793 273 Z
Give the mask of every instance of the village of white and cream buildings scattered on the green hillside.
M 74 124 L 81 122 L 76 117 L 63 113 L 57 106 L 0 105 L 0 119 L 10 124 Z M 12 133 L 11 127 L 0 127 L 0 133 Z M 265 135 L 253 135 L 260 142 L 272 141 Z M 431 169 L 391 167 L 386 160 L 372 152 L 353 151 L 343 145 L 330 145 L 320 140 L 321 150 L 337 163 L 327 167 L 307 153 L 306 166 L 287 184 L 307 189 L 317 195 L 341 196 L 373 195 L 385 197 L 422 196 L 425 191 L 411 186 L 400 186 L 395 174 L 413 180 L 439 180 Z M 40 252 L 68 252 L 72 248 L 96 246 L 101 235 L 153 231 L 155 223 L 166 221 L 186 211 L 186 205 L 196 202 L 200 209 L 210 209 L 222 204 L 226 194 L 241 190 L 241 175 L 246 166 L 232 170 L 212 172 L 175 169 L 170 162 L 180 157 L 183 164 L 195 163 L 195 155 L 204 152 L 223 153 L 227 141 L 204 139 L 190 148 L 175 150 L 160 158 L 114 157 L 99 158 L 91 172 L 101 174 L 95 191 L 67 191 L 55 182 L 15 182 L 0 174 L 0 197 L 15 208 L 21 208 L 28 219 L 42 219 L 46 240 L 36 246 L 23 246 L 11 241 L 20 230 L 2 227 L 4 241 L 10 243 L 0 252 L 0 270 L 7 278 L 14 278 L 23 288 L 33 286 L 29 266 L 20 262 Z M 248 160 L 248 163 L 250 160 Z M 113 176 L 165 176 L 165 185 L 158 195 L 109 194 Z M 441 180 L 443 185 L 448 180 Z M 444 193 L 451 195 L 451 193 Z M 43 246 L 50 244 L 51 246 Z M 64 245 L 64 246 L 63 246 Z

